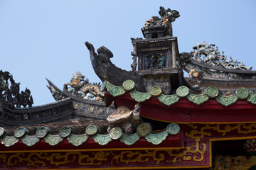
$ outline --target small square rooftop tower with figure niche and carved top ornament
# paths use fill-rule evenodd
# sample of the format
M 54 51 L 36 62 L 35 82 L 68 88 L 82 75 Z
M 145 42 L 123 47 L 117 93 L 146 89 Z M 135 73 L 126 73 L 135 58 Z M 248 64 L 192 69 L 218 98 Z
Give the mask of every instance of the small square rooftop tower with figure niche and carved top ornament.
M 162 6 L 159 14 L 161 18 L 152 16 L 142 28 L 146 39 L 131 38 L 134 47 L 131 67 L 132 72 L 137 71 L 146 78 L 146 91 L 152 86 L 161 86 L 164 87 L 164 94 L 172 94 L 183 84 L 182 71 L 176 66 L 178 43 L 177 38 L 172 36 L 171 24 L 180 15 L 178 11 Z

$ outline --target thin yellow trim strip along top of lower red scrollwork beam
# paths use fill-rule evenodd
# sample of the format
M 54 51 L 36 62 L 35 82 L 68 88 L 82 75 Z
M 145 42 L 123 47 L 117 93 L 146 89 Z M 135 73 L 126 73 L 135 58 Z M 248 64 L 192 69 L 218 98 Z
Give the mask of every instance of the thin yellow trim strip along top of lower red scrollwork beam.
M 140 147 L 140 148 L 129 148 L 129 150 L 144 150 L 144 149 L 158 149 L 158 150 L 166 150 L 166 149 L 181 149 L 181 147 Z M 127 150 L 124 148 L 103 148 L 103 149 L 60 149 L 60 150 L 13 150 L 13 151 L 0 151 L 0 153 L 33 153 L 33 152 L 93 152 L 93 151 L 112 151 L 112 150 Z

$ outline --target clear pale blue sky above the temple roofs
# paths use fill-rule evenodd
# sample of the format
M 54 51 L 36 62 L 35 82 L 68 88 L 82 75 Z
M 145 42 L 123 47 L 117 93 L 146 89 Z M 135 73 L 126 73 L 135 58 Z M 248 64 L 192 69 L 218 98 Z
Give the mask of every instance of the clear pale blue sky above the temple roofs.
M 0 0 L 0 69 L 9 71 L 21 90 L 31 89 L 34 105 L 51 103 L 45 78 L 63 89 L 80 70 L 99 82 L 84 42 L 112 50 L 112 62 L 131 70 L 130 38 L 159 6 L 176 9 L 173 23 L 179 52 L 190 52 L 203 40 L 228 57 L 256 69 L 256 1 L 65 1 Z

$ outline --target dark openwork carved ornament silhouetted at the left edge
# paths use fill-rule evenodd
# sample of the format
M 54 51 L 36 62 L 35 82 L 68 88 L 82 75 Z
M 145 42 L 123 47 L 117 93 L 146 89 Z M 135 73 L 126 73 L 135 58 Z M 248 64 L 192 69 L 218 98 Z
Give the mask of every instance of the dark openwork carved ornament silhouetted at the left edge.
M 9 81 L 11 82 L 9 87 Z M 16 83 L 9 72 L 0 71 L 0 100 L 1 106 L 9 108 L 31 107 L 33 98 L 31 91 L 25 89 L 20 93 L 20 83 Z

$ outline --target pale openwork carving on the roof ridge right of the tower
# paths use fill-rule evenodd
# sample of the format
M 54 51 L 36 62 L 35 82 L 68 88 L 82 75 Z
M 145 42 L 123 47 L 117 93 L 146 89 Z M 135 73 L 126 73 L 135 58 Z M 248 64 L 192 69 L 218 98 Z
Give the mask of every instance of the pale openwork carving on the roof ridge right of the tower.
M 221 66 L 226 69 L 252 69 L 252 67 L 246 67 L 245 64 L 238 62 L 238 60 L 234 61 L 232 57 L 228 60 L 228 57 L 224 52 L 220 55 L 218 47 L 215 47 L 214 44 L 208 45 L 208 43 L 204 41 L 201 44 L 198 43 L 198 45 L 194 46 L 193 51 L 190 53 L 193 60 L 203 62 L 204 64 L 208 64 L 213 67 Z

